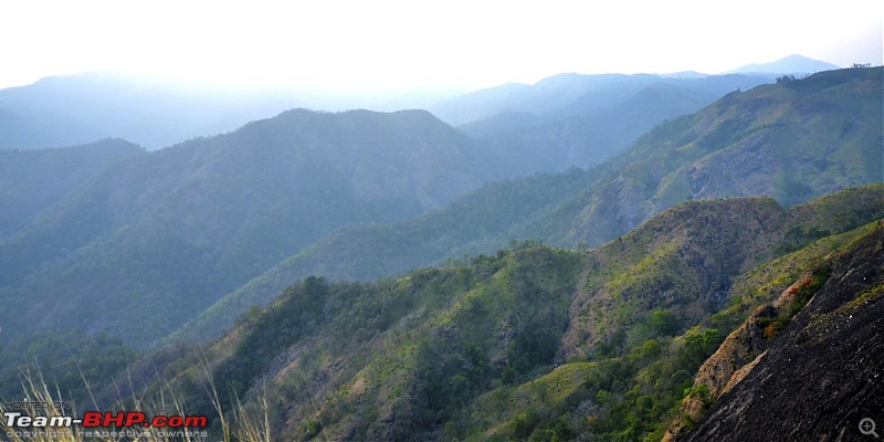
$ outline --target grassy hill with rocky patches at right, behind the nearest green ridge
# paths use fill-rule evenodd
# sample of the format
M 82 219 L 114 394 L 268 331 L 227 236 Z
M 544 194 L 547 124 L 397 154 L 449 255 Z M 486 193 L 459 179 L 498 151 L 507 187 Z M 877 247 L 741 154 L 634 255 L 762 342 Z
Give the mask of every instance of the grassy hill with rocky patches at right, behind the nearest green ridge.
M 645 134 L 610 162 L 614 179 L 514 232 L 594 244 L 688 199 L 767 194 L 793 206 L 880 182 L 882 76 L 830 71 L 729 94 Z

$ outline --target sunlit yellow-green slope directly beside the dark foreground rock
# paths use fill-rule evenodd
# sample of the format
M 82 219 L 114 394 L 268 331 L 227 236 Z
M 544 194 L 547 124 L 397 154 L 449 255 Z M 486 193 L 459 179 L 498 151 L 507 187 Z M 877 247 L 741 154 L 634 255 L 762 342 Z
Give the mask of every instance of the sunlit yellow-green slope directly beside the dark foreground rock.
M 771 302 L 799 274 L 881 230 L 874 222 L 819 240 L 738 277 L 732 306 L 675 337 L 648 340 L 613 355 L 596 354 L 517 388 L 494 389 L 471 403 L 451 428 L 462 440 L 660 440 L 693 373 L 717 343 L 756 306 Z M 596 439 L 591 439 L 596 440 Z

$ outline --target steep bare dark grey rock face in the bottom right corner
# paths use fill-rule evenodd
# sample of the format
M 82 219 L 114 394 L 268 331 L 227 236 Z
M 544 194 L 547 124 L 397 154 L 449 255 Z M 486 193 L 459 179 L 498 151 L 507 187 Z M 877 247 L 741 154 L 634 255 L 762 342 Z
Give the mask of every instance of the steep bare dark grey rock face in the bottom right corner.
M 728 337 L 697 376 L 697 382 L 711 382 L 711 396 L 716 391 L 720 396 L 687 434 L 680 434 L 684 425 L 673 423 L 664 440 L 870 438 L 860 433 L 860 421 L 884 422 L 884 224 L 830 264 L 832 274 L 825 284 L 768 340 L 767 350 L 758 352 L 764 356 L 729 376 L 728 364 L 734 367 L 745 360 L 754 343 L 759 343 L 758 327 L 749 325 L 753 318 L 775 307 L 759 308 Z M 790 306 L 808 281 L 802 275 L 777 305 Z M 749 333 L 753 328 L 756 335 Z M 764 336 L 760 330 L 761 341 Z M 718 383 L 725 378 L 728 381 Z M 694 410 L 696 404 L 686 401 L 685 409 Z

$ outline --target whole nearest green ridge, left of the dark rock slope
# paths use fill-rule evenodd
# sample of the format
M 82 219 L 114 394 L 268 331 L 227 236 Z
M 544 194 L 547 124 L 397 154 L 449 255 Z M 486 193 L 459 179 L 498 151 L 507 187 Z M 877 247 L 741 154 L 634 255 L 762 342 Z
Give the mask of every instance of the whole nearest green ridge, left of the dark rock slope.
M 308 277 L 166 372 L 196 410 L 211 412 L 207 369 L 222 398 L 281 404 L 286 440 L 660 438 L 732 328 L 881 230 L 882 191 L 691 202 L 588 252 L 519 243 L 396 280 Z M 856 210 L 817 215 L 836 207 Z

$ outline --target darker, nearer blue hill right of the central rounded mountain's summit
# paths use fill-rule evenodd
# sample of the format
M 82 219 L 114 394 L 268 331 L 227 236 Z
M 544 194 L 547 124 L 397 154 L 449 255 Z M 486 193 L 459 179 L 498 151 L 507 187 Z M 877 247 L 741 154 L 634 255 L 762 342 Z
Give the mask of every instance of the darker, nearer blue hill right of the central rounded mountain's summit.
M 487 144 L 518 175 L 587 168 L 622 152 L 657 124 L 693 114 L 725 94 L 766 80 L 739 75 L 641 78 L 587 93 L 548 114 L 506 113 L 459 128 Z

